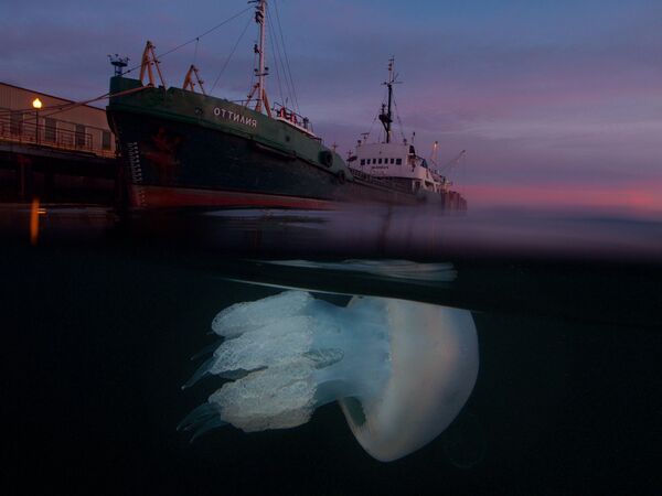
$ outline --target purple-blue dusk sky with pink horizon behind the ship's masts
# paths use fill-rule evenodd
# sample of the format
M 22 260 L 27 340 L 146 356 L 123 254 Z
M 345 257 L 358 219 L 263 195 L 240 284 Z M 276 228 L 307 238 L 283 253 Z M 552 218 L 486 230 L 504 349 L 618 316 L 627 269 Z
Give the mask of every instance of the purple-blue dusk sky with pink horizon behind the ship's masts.
M 362 132 L 372 129 L 371 140 L 380 139 L 374 119 L 394 56 L 402 82 L 396 138 L 416 132 L 426 158 L 438 140 L 440 164 L 467 150 L 447 172 L 470 204 L 662 209 L 662 1 L 269 4 L 271 100 L 287 93 L 278 63 L 285 57 L 274 50 L 282 41 L 300 111 L 343 155 Z M 0 80 L 74 100 L 95 97 L 107 90 L 108 54 L 129 56 L 132 65 L 146 40 L 164 54 L 247 7 L 244 0 L 3 0 Z M 194 62 L 209 90 L 225 65 L 213 94 L 245 97 L 256 39 L 246 11 L 163 56 L 166 83 L 180 86 Z

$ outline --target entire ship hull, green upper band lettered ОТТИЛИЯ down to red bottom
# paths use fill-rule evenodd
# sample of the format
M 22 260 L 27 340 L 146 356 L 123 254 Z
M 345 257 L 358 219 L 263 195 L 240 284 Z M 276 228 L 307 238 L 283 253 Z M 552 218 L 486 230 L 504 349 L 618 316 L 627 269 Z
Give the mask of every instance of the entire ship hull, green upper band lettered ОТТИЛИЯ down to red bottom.
M 140 88 L 131 79 L 114 78 L 111 93 L 126 91 L 127 84 L 137 93 L 111 98 L 107 115 L 130 207 L 421 203 L 402 188 L 354 177 L 320 140 L 284 122 L 214 97 Z

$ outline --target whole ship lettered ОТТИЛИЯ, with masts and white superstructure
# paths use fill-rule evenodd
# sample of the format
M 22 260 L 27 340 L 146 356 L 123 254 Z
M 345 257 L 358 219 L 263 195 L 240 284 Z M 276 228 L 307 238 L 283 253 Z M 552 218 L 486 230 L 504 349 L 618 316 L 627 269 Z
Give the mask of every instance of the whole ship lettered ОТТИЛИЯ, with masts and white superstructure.
M 348 160 L 323 143 L 308 118 L 285 104 L 271 106 L 266 90 L 267 0 L 252 3 L 259 37 L 255 83 L 246 100 L 207 95 L 194 65 L 181 88 L 166 87 L 151 42 L 138 78 L 122 73 L 125 63 L 115 64 L 106 111 L 120 150 L 129 207 L 334 209 L 433 201 L 442 208 L 467 208 L 412 143 L 392 141 L 393 61 L 388 105 L 380 116 L 386 139 L 360 142 Z

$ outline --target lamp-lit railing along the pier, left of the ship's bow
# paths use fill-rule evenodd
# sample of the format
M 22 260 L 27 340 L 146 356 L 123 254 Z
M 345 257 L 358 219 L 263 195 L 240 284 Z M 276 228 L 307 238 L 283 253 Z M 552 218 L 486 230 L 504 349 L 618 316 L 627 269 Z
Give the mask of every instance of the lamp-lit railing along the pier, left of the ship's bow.
M 14 121 L 7 114 L 0 114 L 0 141 L 35 144 L 65 151 L 83 151 L 100 157 L 113 158 L 113 150 L 95 147 L 89 132 L 73 131 L 60 127 L 31 121 Z

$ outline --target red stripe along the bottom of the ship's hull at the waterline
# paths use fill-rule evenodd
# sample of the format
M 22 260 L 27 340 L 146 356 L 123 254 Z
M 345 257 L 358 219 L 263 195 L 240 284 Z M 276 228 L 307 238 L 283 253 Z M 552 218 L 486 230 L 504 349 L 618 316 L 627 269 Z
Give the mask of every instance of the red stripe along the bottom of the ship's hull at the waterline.
M 279 207 L 328 211 L 337 207 L 333 202 L 218 190 L 193 190 L 167 186 L 130 186 L 131 204 L 142 207 Z

